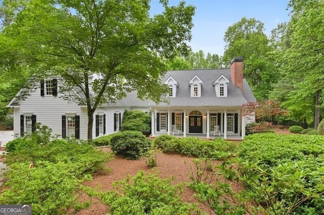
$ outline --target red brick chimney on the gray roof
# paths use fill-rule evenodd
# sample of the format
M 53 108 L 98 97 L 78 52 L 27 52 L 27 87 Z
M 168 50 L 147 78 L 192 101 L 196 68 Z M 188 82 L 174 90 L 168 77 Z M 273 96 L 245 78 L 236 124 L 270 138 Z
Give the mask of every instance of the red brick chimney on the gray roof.
M 231 80 L 243 92 L 243 58 L 235 57 L 231 62 Z

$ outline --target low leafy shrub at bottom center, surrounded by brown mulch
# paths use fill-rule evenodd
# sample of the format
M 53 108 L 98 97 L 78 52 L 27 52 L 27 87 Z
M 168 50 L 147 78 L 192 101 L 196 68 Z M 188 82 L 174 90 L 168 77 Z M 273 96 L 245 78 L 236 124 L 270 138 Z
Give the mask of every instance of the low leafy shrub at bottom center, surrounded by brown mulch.
M 171 184 L 172 178 L 160 179 L 158 174 L 140 171 L 133 179 L 117 181 L 117 191 L 96 191 L 86 187 L 90 196 L 96 196 L 110 206 L 111 214 L 197 214 L 195 204 L 181 199 L 182 184 Z

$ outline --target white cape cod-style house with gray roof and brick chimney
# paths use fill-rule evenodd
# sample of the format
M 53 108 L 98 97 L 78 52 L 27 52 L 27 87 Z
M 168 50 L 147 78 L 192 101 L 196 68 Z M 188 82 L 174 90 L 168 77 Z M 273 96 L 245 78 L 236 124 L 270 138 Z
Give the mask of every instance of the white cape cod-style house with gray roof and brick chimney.
M 244 138 L 251 118 L 242 116 L 242 104 L 256 99 L 243 78 L 243 59 L 235 58 L 230 69 L 169 71 L 168 103 L 142 101 L 131 92 L 124 99 L 102 105 L 94 114 L 93 138 L 119 131 L 125 110 L 151 114 L 151 136 L 177 134 L 214 138 Z M 14 133 L 23 136 L 40 122 L 63 138 L 87 139 L 87 106 L 58 96 L 56 79 L 45 80 L 24 100 L 14 97 L 7 105 L 14 109 Z

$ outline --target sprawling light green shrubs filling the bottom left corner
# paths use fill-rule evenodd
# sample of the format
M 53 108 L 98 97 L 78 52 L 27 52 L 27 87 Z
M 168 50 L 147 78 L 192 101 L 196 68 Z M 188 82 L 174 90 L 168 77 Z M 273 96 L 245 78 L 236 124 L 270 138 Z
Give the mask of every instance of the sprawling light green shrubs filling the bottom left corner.
M 82 209 L 76 193 L 80 183 L 103 169 L 112 155 L 72 138 L 40 141 L 50 136 L 51 133 L 36 132 L 9 142 L 11 152 L 6 155 L 6 163 L 10 168 L 6 189 L 0 195 L 2 204 L 31 204 L 35 214 L 64 214 L 70 208 Z

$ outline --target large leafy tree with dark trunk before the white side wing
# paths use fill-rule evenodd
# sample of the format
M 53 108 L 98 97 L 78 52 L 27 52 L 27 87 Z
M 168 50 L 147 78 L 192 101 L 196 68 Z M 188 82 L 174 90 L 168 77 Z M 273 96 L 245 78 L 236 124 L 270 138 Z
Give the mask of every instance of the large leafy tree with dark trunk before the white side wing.
M 159 80 L 167 69 L 163 62 L 189 50 L 185 41 L 191 39 L 195 8 L 184 2 L 168 6 L 161 0 L 164 12 L 154 17 L 149 0 L 18 3 L 13 23 L 4 30 L 10 52 L 0 53 L 32 68 L 22 95 L 43 78 L 61 77 L 62 98 L 87 105 L 89 142 L 98 106 L 133 90 L 141 99 L 159 102 L 167 90 Z M 91 80 L 94 74 L 99 78 Z

